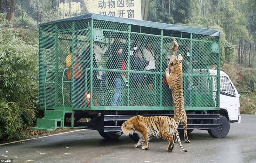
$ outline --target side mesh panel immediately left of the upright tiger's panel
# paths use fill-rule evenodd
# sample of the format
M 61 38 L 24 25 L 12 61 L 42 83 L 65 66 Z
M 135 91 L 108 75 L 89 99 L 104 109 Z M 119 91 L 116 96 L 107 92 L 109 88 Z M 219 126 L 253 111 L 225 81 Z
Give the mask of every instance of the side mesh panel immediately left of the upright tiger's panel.
M 159 98 L 156 98 L 162 83 L 159 44 L 160 37 L 131 34 L 129 66 L 132 70 L 130 78 L 132 106 L 156 106 L 159 102 Z M 138 49 L 134 51 L 134 47 Z M 148 66 L 150 60 L 155 60 L 155 67 Z M 146 67 L 148 70 L 145 70 Z

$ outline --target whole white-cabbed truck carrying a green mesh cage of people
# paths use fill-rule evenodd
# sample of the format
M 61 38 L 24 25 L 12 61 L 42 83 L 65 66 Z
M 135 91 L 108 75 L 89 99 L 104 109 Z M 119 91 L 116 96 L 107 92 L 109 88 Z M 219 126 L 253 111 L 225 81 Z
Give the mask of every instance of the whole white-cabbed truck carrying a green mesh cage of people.
M 241 118 L 239 93 L 220 71 L 220 31 L 93 13 L 39 25 L 44 118 L 30 129 L 86 128 L 114 139 L 132 116 L 172 117 L 164 71 L 174 38 L 184 59 L 188 132 L 225 137 Z

